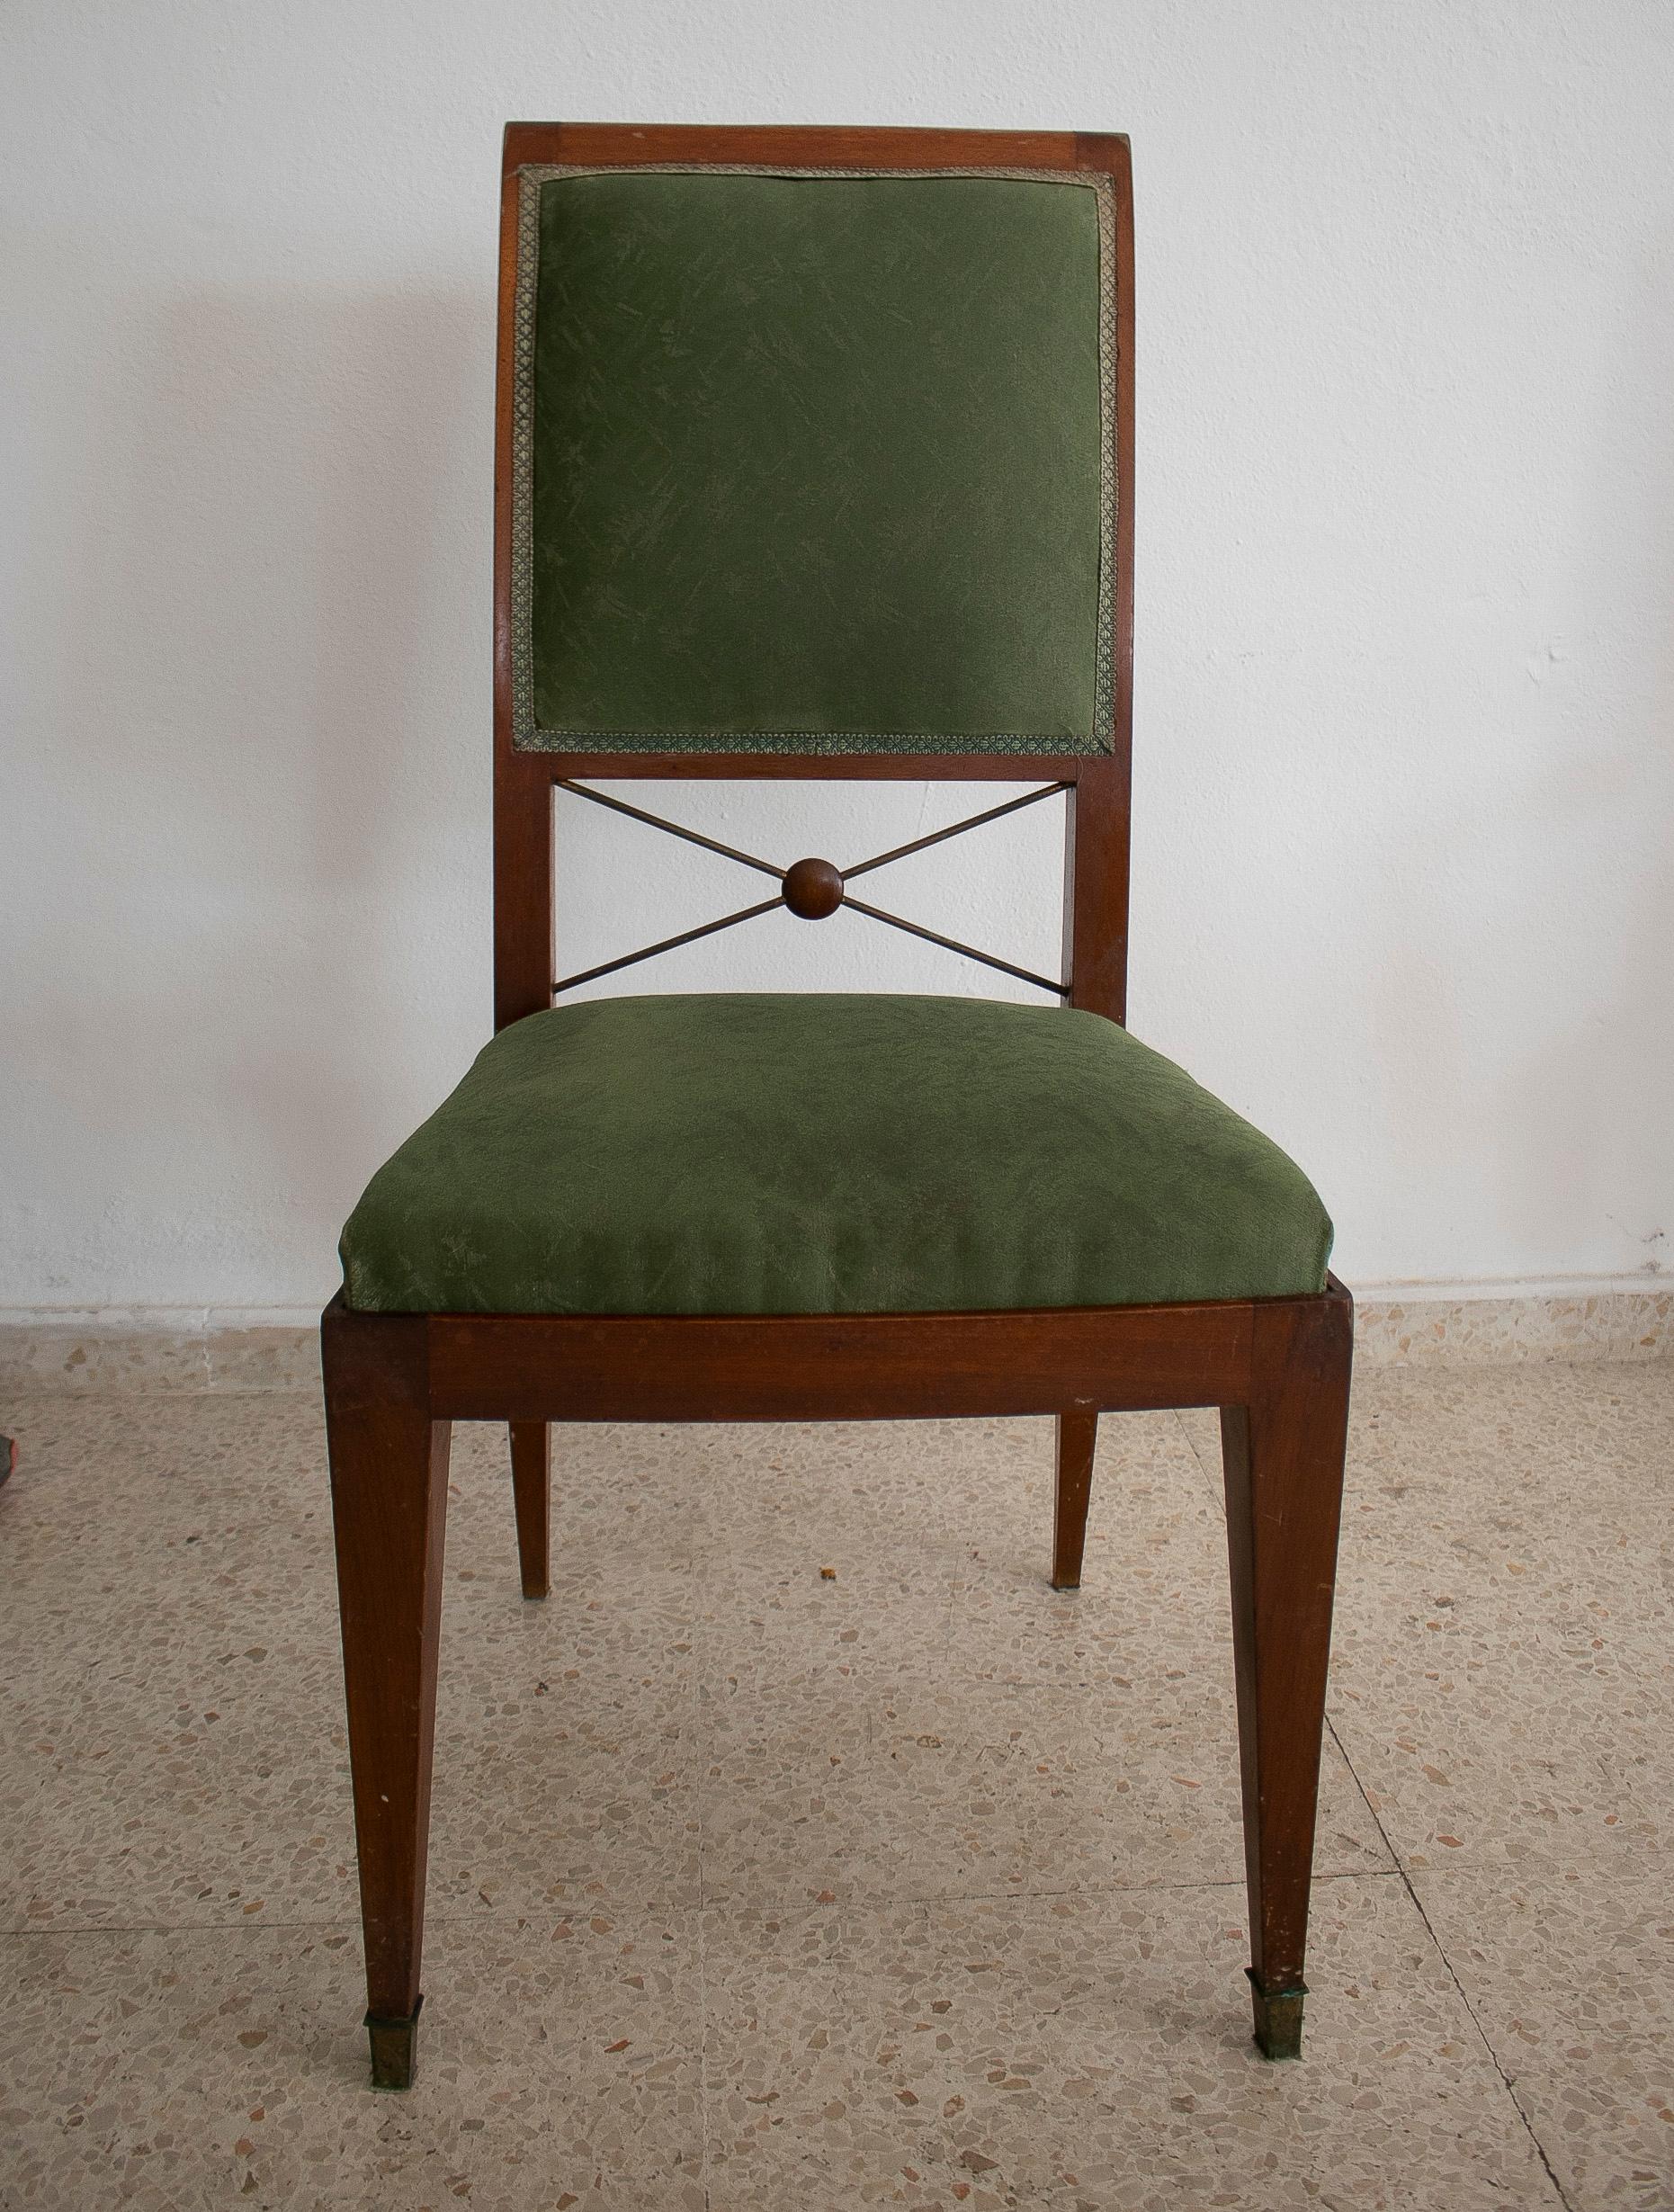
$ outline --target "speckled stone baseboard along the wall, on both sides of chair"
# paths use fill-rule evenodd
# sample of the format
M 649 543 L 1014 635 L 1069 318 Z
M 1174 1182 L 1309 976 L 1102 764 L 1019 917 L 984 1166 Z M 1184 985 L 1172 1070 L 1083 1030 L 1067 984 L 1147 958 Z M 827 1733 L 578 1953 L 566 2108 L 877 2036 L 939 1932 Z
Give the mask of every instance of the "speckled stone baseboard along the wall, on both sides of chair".
M 1674 1285 L 1643 1276 L 1356 1290 L 1356 1358 L 1371 1367 L 1670 1354 Z M 307 1307 L 0 1307 L 0 1391 L 316 1391 L 318 1380 Z

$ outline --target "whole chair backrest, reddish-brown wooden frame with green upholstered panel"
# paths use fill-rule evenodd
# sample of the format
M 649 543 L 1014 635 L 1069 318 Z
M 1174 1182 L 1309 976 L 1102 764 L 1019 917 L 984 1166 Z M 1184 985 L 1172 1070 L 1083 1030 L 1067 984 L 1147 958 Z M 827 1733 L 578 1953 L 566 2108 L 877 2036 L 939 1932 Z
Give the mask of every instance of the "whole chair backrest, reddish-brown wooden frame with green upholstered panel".
M 1132 420 L 1126 137 L 509 124 L 495 1026 L 553 787 L 632 776 L 1061 787 L 1059 995 L 1123 1020 Z

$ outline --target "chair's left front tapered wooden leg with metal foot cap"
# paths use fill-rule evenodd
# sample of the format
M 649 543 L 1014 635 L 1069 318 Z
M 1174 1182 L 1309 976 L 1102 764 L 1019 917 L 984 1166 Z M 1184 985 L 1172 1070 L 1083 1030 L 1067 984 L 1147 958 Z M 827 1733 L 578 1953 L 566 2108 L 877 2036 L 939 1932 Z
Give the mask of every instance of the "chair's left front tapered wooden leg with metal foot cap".
M 327 1307 L 321 1327 L 332 1524 L 367 1947 L 372 2079 L 414 2079 L 425 1938 L 447 1440 L 427 1323 Z

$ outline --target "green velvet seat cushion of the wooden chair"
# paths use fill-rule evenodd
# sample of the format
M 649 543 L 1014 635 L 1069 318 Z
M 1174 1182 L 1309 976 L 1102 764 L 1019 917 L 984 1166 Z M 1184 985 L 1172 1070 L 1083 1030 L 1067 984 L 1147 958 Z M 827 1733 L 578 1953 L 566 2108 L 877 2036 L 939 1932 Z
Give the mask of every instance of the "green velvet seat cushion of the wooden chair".
M 1307 1177 L 1092 1013 L 668 995 L 504 1029 L 343 1230 L 367 1312 L 867 1314 L 1318 1292 Z

